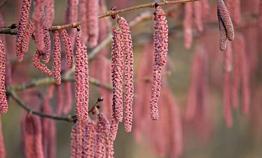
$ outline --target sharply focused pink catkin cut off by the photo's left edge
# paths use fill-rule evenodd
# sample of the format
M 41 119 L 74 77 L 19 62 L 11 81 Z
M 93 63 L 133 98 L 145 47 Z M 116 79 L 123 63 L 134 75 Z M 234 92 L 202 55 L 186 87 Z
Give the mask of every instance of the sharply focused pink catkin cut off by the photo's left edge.
M 7 112 L 7 100 L 5 94 L 5 50 L 2 40 L 0 39 L 0 113 Z

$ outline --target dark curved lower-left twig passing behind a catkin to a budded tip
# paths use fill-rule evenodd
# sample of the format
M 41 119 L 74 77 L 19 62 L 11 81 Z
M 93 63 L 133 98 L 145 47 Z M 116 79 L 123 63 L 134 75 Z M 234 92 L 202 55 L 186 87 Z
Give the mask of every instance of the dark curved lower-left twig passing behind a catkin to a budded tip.
M 57 115 L 49 115 L 49 114 L 45 114 L 45 113 L 42 113 L 42 112 L 35 111 L 35 110 L 29 108 L 25 103 L 23 103 L 17 97 L 17 95 L 14 92 L 10 92 L 9 95 L 18 103 L 19 106 L 21 106 L 23 109 L 27 110 L 28 112 L 30 112 L 32 114 L 39 115 L 41 117 L 47 117 L 47 118 L 50 118 L 50 119 L 67 121 L 67 122 L 71 122 L 71 123 L 73 123 L 73 122 L 75 123 L 77 121 L 76 115 L 57 116 Z M 92 110 L 95 109 L 97 104 L 100 103 L 101 101 L 103 101 L 103 97 L 99 96 L 97 101 L 91 106 L 91 108 L 88 109 L 88 113 L 92 112 Z

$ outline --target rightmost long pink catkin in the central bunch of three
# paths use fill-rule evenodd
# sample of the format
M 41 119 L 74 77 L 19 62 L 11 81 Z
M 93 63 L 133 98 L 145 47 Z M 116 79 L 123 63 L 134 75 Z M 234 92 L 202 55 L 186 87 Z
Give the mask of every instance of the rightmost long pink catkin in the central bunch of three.
M 125 105 L 124 105 L 124 113 L 125 113 L 125 130 L 126 132 L 131 131 L 132 127 L 132 104 L 133 104 L 133 49 L 132 49 L 132 38 L 130 35 L 128 24 L 123 17 L 117 19 L 118 24 L 121 26 L 121 30 L 123 32 L 124 37 L 124 49 L 125 49 Z

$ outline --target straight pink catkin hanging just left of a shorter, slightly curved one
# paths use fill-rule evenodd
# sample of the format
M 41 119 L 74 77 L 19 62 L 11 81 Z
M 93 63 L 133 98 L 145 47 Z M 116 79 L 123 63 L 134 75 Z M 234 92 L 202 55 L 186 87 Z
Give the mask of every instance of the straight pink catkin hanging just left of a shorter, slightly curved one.
M 54 53 L 53 53 L 53 75 L 56 84 L 61 84 L 61 45 L 58 31 L 53 31 Z

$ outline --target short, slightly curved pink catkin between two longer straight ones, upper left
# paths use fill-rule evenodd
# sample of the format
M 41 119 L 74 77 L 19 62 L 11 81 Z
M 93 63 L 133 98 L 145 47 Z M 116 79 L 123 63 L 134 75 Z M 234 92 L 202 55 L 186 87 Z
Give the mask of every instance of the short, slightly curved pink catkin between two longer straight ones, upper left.
M 66 51 L 66 58 L 67 58 L 67 67 L 72 68 L 73 67 L 73 51 L 72 51 L 72 46 L 70 39 L 68 37 L 68 34 L 66 30 L 59 30 L 59 33 L 63 39 L 64 42 L 64 47 Z

